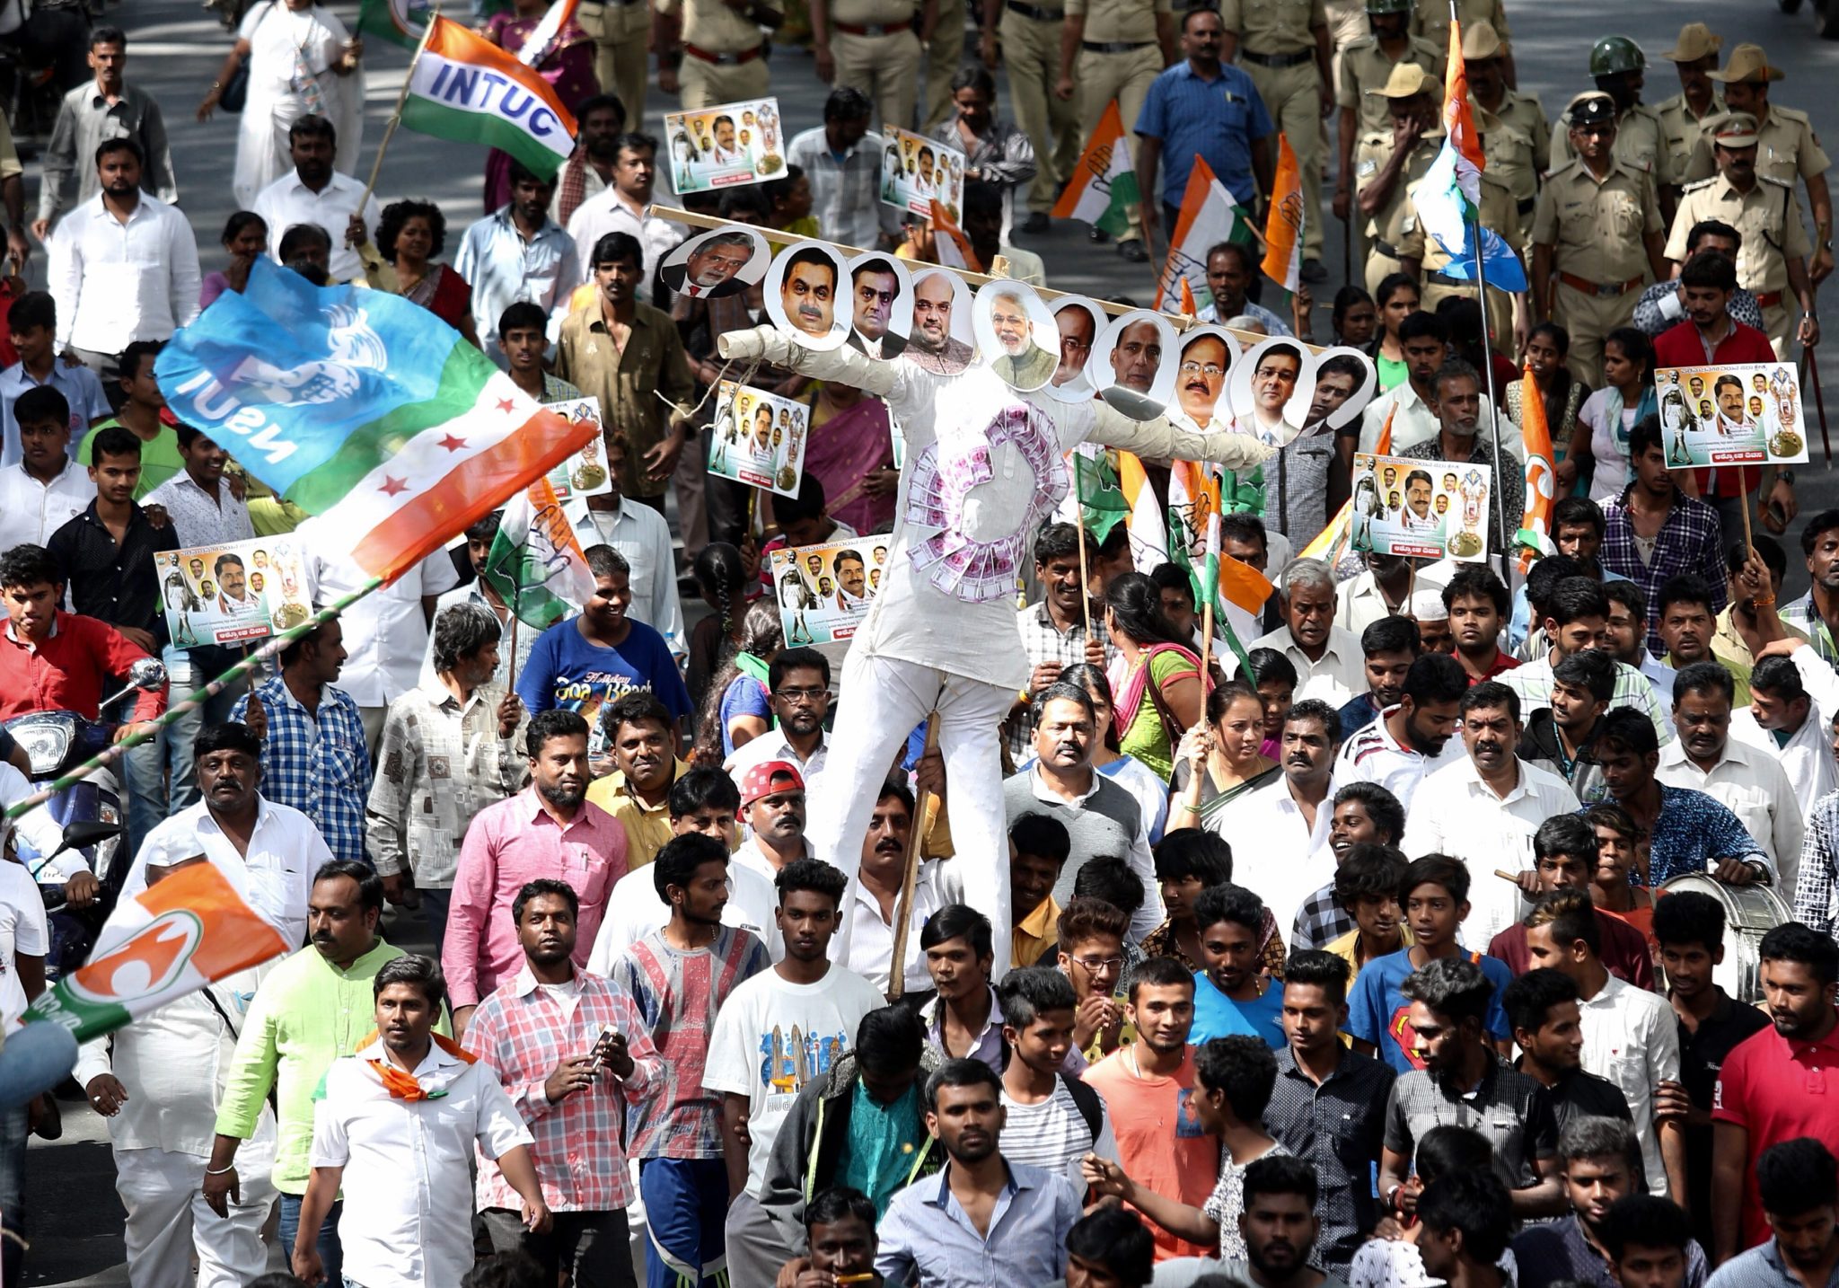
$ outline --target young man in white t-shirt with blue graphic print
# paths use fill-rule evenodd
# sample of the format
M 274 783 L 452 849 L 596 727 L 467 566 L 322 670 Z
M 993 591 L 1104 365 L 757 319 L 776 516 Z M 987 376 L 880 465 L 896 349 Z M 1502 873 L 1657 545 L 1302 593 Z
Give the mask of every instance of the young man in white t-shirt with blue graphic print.
M 760 1205 L 780 1124 L 798 1093 L 822 1082 L 883 997 L 861 975 L 829 960 L 842 872 L 794 859 L 778 876 L 774 920 L 785 957 L 723 1003 L 708 1040 L 704 1091 L 721 1097 L 721 1146 L 728 1168 L 726 1255 L 732 1282 L 771 1282 L 785 1260 L 772 1218 Z

